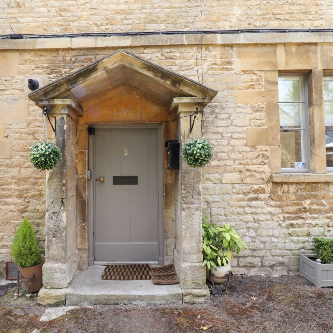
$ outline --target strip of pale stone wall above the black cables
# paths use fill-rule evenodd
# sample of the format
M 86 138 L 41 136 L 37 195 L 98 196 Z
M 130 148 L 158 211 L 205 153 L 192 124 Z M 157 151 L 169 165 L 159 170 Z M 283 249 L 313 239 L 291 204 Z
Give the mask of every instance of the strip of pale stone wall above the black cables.
M 328 28 L 325 0 L 76 0 L 2 1 L 1 34 L 105 31 Z

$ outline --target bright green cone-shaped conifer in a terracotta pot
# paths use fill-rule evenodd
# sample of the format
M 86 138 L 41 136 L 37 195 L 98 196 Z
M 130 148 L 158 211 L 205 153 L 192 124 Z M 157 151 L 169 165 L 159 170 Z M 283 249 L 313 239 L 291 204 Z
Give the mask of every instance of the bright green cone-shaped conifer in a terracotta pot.
M 34 228 L 26 218 L 15 231 L 11 249 L 14 261 L 19 266 L 23 277 L 25 288 L 29 291 L 32 282 L 29 279 L 35 274 L 35 281 L 31 285 L 30 292 L 39 291 L 43 286 L 42 266 L 44 262 Z

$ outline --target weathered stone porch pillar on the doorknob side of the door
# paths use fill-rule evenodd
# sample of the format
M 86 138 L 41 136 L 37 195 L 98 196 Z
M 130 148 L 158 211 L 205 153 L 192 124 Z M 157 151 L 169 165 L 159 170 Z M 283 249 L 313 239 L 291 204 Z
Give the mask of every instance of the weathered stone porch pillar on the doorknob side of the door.
M 57 134 L 48 138 L 61 150 L 58 166 L 46 172 L 46 261 L 44 288 L 66 288 L 78 269 L 76 249 L 76 126 L 82 111 L 72 100 L 36 102 L 57 116 Z M 50 117 L 51 118 L 51 117 Z M 54 119 L 51 118 L 54 123 Z M 51 141 L 50 140 L 50 141 Z

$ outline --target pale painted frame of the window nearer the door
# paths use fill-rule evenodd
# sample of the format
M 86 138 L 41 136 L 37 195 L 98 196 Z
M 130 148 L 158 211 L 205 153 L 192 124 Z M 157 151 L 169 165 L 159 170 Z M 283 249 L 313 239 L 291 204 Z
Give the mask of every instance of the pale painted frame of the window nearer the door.
M 310 139 L 309 139 L 309 105 L 308 105 L 308 89 L 307 89 L 307 75 L 303 73 L 280 73 L 279 78 L 299 77 L 300 78 L 300 101 L 280 102 L 280 103 L 302 103 L 304 105 L 304 117 L 301 117 L 301 153 L 302 162 L 305 162 L 305 169 L 298 169 L 295 167 L 281 167 L 281 172 L 310 172 Z M 293 129 L 294 130 L 294 129 Z M 283 129 L 280 128 L 280 132 Z

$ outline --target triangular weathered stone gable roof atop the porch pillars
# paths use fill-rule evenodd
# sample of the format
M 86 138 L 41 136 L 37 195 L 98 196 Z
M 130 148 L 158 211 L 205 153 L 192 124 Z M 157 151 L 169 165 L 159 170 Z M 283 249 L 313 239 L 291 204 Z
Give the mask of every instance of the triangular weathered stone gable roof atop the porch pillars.
M 81 110 L 86 110 L 96 103 L 103 104 L 103 101 L 109 100 L 115 94 L 130 94 L 168 109 L 174 98 L 205 97 L 210 101 L 217 92 L 129 52 L 119 50 L 41 87 L 28 97 L 36 104 L 40 101 L 69 99 Z

